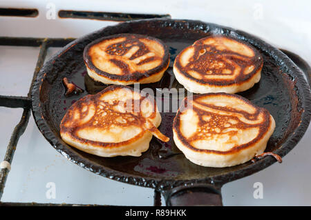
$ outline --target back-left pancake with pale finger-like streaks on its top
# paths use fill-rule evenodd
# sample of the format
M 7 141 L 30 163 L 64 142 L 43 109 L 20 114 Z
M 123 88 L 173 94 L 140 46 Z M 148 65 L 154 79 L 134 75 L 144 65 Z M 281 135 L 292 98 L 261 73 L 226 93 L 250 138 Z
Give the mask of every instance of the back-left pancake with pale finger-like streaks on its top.
M 84 63 L 88 75 L 105 84 L 154 83 L 169 67 L 169 50 L 154 37 L 116 34 L 88 44 Z

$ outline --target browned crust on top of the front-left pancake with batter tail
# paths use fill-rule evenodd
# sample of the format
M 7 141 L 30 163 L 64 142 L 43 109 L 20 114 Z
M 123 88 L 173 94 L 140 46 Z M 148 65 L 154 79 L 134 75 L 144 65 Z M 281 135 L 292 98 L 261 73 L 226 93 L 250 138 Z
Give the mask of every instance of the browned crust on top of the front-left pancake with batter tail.
M 109 123 L 109 121 L 113 121 L 113 124 L 120 126 L 120 127 L 131 126 L 131 125 L 143 127 L 143 124 L 145 121 L 144 121 L 144 117 L 140 115 L 141 114 L 140 112 L 135 112 L 135 113 L 115 112 L 111 110 L 112 109 L 111 107 L 114 105 L 117 105 L 117 103 L 111 104 L 106 101 L 99 100 L 99 97 L 101 97 L 101 95 L 104 94 L 105 92 L 118 90 L 120 88 L 126 88 L 126 89 L 134 91 L 133 88 L 130 88 L 127 86 L 113 85 L 113 86 L 107 87 L 101 92 L 98 92 L 97 94 L 89 94 L 86 97 L 83 97 L 82 99 L 79 99 L 78 101 L 73 103 L 73 105 L 70 106 L 70 108 L 68 108 L 64 118 L 62 119 L 62 122 L 60 124 L 60 132 L 68 134 L 71 137 L 71 139 L 79 143 L 89 143 L 94 147 L 104 147 L 104 148 L 117 148 L 118 146 L 124 146 L 130 143 L 133 143 L 137 141 L 138 139 L 140 139 L 141 137 L 143 137 L 144 133 L 147 132 L 147 130 L 145 129 L 143 129 L 142 132 L 140 132 L 138 135 L 136 135 L 135 137 L 129 140 L 117 142 L 117 143 L 110 143 L 110 142 L 104 143 L 101 141 L 91 141 L 91 140 L 83 139 L 77 136 L 78 129 L 80 130 L 82 128 L 107 128 L 111 124 Z M 147 96 L 141 97 L 140 103 L 142 103 L 144 99 L 150 99 L 150 97 L 147 97 Z M 135 103 L 135 104 L 138 104 L 138 103 Z M 81 121 L 83 117 L 85 117 L 88 114 L 89 106 L 96 107 L 95 117 L 92 117 L 92 119 L 89 120 L 87 123 L 84 123 L 81 125 L 79 124 L 79 121 Z M 109 106 L 110 107 L 109 111 L 105 111 L 104 113 L 104 111 L 102 110 L 100 106 Z M 157 107 L 156 105 L 154 105 L 153 107 L 154 107 L 154 111 L 151 112 L 150 116 L 148 117 L 149 119 L 154 119 L 156 117 Z M 131 108 L 134 108 L 134 106 L 131 106 Z M 74 119 L 73 112 L 79 112 L 79 119 Z M 96 115 L 98 115 L 99 113 L 104 113 L 105 117 L 96 117 Z M 130 118 L 131 120 L 126 120 L 126 123 L 120 123 L 117 120 L 115 120 L 120 115 L 122 115 L 122 118 L 125 118 L 125 119 Z M 97 123 L 95 121 L 97 121 Z M 65 126 L 66 123 L 70 123 L 70 126 Z

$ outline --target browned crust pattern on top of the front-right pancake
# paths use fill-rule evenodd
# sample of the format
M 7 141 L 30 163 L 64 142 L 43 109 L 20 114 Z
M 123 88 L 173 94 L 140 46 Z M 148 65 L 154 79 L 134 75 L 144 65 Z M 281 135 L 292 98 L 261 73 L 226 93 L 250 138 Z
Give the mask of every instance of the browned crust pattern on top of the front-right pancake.
M 206 121 L 204 119 L 202 119 L 203 116 L 210 116 L 211 117 L 211 121 L 214 122 L 214 127 L 219 128 L 220 131 L 225 129 L 224 124 L 229 121 L 229 119 L 233 119 L 238 121 L 238 123 L 236 123 L 234 125 L 235 128 L 241 128 L 242 130 L 245 128 L 252 128 L 252 127 L 259 127 L 259 135 L 254 138 L 252 141 L 249 141 L 248 143 L 245 143 L 243 145 L 240 146 L 236 146 L 230 150 L 226 150 L 226 151 L 220 151 L 220 150 L 208 150 L 208 149 L 198 149 L 198 148 L 194 148 L 193 146 L 191 146 L 191 144 L 189 143 L 189 141 L 191 140 L 198 140 L 198 139 L 202 139 L 202 137 L 198 137 L 198 132 L 196 134 L 194 134 L 193 136 L 191 136 L 191 139 L 186 139 L 180 132 L 180 112 L 182 111 L 182 109 L 185 109 L 187 107 L 183 107 L 183 106 L 188 106 L 190 105 L 189 100 L 187 99 L 187 97 L 183 100 L 182 106 L 180 107 L 180 109 L 178 109 L 178 112 L 176 114 L 176 117 L 173 120 L 173 130 L 176 132 L 178 139 L 183 143 L 184 146 L 187 146 L 187 148 L 190 148 L 191 150 L 194 150 L 196 152 L 206 152 L 206 153 L 214 153 L 214 154 L 234 154 L 236 152 L 242 151 L 243 149 L 249 148 L 250 146 L 254 146 L 254 144 L 258 143 L 258 141 L 266 134 L 266 132 L 269 130 L 270 126 L 271 126 L 271 119 L 270 119 L 270 113 L 265 109 L 265 108 L 259 108 L 258 106 L 254 106 L 253 103 L 251 103 L 249 100 L 237 95 L 237 94 L 227 94 L 225 92 L 218 92 L 218 93 L 208 93 L 208 94 L 196 94 L 193 97 L 194 101 L 198 101 L 198 99 L 200 97 L 206 97 L 206 96 L 215 96 L 215 95 L 221 95 L 221 96 L 227 96 L 227 97 L 234 97 L 234 99 L 240 99 L 242 101 L 244 101 L 245 103 L 247 103 L 248 105 L 256 108 L 256 112 L 254 112 L 254 114 L 249 114 L 248 112 L 245 112 L 243 110 L 236 110 L 233 108 L 229 108 L 229 107 L 220 107 L 220 106 L 214 106 L 214 105 L 210 105 L 207 103 L 202 103 L 200 102 L 200 105 L 202 106 L 206 106 L 209 108 L 214 108 L 216 110 L 225 110 L 227 112 L 238 112 L 239 114 L 243 114 L 243 117 L 245 117 L 246 119 L 249 120 L 254 120 L 258 117 L 259 114 L 263 114 L 263 121 L 261 123 L 256 123 L 253 125 L 249 125 L 249 124 L 245 124 L 239 120 L 237 120 L 235 117 L 230 117 L 228 115 L 220 115 L 220 114 L 214 114 L 211 112 L 206 112 L 204 110 L 201 110 L 200 108 L 196 108 L 196 106 L 191 106 L 191 108 L 194 109 L 194 111 L 198 114 L 199 117 L 199 128 L 202 128 L 206 125 Z M 210 127 L 212 127 L 213 125 L 211 125 Z M 234 136 L 236 131 L 230 131 L 231 135 Z M 211 135 L 213 134 L 218 134 L 217 132 L 215 132 L 214 130 L 209 130 L 209 133 Z

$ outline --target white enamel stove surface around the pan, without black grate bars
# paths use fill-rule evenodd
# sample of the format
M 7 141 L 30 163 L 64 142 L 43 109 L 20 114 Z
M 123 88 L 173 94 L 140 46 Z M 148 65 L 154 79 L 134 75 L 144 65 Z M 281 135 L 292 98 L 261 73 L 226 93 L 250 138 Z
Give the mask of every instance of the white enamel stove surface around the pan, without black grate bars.
M 55 19 L 46 19 L 55 6 Z M 272 45 L 299 54 L 311 65 L 311 1 L 0 1 L 0 8 L 37 8 L 36 18 L 0 17 L 0 36 L 81 37 L 113 21 L 59 19 L 58 10 L 171 14 L 244 30 Z M 48 56 L 59 48 L 48 50 Z M 26 96 L 38 48 L 0 46 L 0 94 Z M 21 109 L 0 108 L 0 161 Z M 223 186 L 225 206 L 310 206 L 311 129 L 283 163 Z M 56 199 L 46 198 L 46 184 Z M 254 183 L 263 183 L 263 199 L 254 199 Z M 30 118 L 17 145 L 1 201 L 97 203 L 151 206 L 153 190 L 105 179 L 67 161 L 41 135 Z

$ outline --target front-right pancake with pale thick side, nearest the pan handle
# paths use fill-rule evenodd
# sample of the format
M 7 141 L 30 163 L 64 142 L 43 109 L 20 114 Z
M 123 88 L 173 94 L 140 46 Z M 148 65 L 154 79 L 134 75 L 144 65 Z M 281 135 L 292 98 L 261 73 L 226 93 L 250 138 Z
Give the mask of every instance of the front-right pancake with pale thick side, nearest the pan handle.
M 262 154 L 274 128 L 265 108 L 237 94 L 197 94 L 178 110 L 173 140 L 193 163 L 223 168 Z

